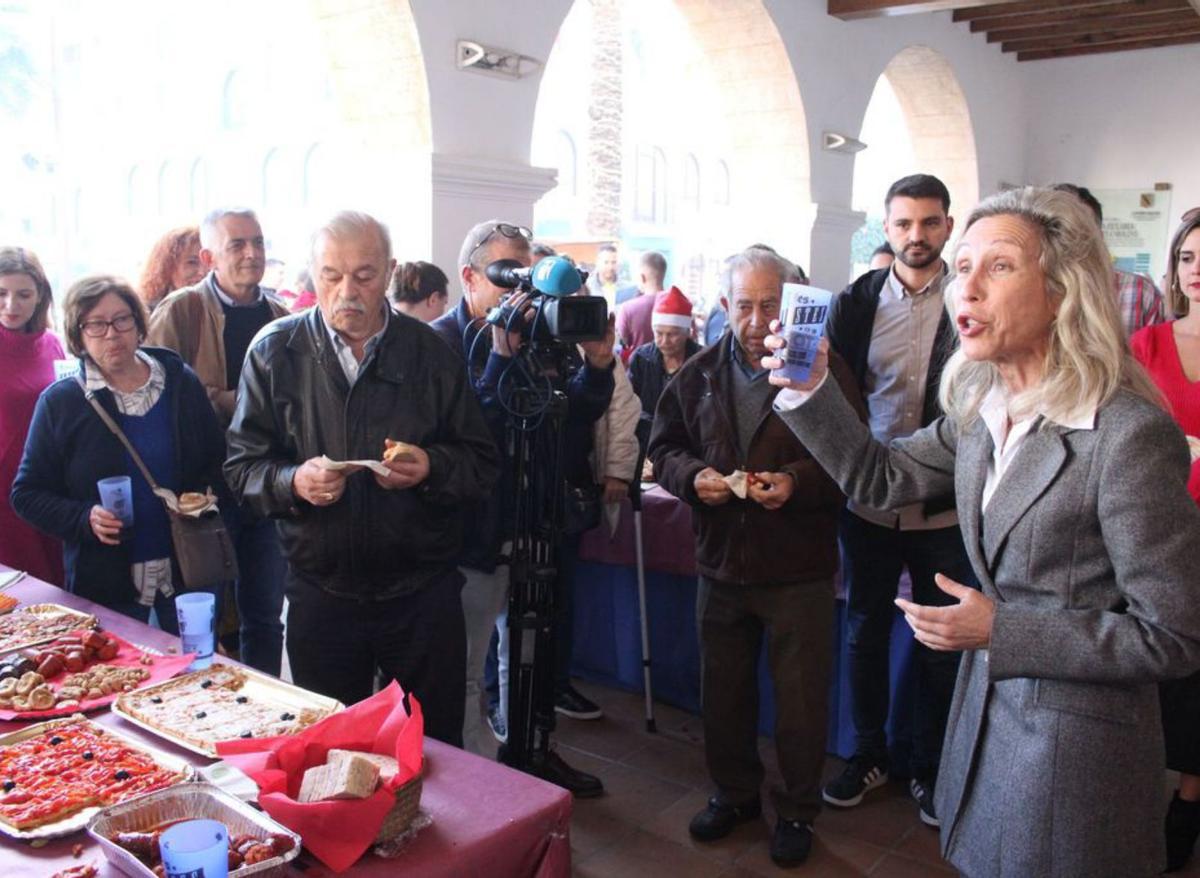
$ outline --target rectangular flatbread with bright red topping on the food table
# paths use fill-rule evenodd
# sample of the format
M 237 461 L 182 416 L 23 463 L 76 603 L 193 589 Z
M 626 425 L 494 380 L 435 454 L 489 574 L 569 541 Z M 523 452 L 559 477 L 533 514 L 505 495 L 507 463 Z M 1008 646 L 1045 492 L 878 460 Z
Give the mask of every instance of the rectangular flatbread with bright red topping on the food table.
M 83 717 L 58 720 L 0 746 L 0 820 L 29 830 L 186 778 Z

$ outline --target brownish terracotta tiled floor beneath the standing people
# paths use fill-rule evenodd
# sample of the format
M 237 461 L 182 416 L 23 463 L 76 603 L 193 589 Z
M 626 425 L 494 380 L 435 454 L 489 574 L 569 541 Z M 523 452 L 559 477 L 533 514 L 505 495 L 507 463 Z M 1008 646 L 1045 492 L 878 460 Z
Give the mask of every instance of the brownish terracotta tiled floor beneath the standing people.
M 601 720 L 559 717 L 559 752 L 575 768 L 596 774 L 605 795 L 575 802 L 571 852 L 576 878 L 754 878 L 781 876 L 768 854 L 773 813 L 739 826 L 728 837 L 701 844 L 688 822 L 704 806 L 710 788 L 704 771 L 700 717 L 656 704 L 658 733 L 646 732 L 641 696 L 576 681 L 599 703 Z M 770 741 L 760 750 L 767 784 L 779 783 Z M 492 753 L 494 756 L 494 751 Z M 842 768 L 830 757 L 829 777 Z M 1169 783 L 1169 782 L 1168 782 Z M 769 796 L 763 795 L 769 812 Z M 816 822 L 809 861 L 796 870 L 806 878 L 936 878 L 953 876 L 937 852 L 937 832 L 917 818 L 917 806 L 899 782 L 866 796 L 851 811 L 826 808 Z M 1181 878 L 1200 878 L 1195 862 Z

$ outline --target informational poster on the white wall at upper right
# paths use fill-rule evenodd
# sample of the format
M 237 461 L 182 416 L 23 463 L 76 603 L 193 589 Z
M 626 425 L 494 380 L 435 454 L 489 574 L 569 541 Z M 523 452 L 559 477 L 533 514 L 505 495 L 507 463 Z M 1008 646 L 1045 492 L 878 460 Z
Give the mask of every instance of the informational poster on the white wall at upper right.
M 1092 190 L 1104 208 L 1104 240 L 1122 271 L 1162 284 L 1171 231 L 1170 190 Z

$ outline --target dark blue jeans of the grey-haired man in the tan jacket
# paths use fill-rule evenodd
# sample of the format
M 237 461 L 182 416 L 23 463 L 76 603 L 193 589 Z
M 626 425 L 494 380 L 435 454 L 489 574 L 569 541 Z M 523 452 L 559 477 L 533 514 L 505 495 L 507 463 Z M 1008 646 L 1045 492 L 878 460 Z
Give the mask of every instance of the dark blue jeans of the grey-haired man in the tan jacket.
M 258 518 L 246 506 L 236 510 L 230 536 L 238 553 L 234 584 L 241 625 L 241 661 L 256 670 L 280 675 L 283 661 L 283 582 L 288 566 L 275 522 Z

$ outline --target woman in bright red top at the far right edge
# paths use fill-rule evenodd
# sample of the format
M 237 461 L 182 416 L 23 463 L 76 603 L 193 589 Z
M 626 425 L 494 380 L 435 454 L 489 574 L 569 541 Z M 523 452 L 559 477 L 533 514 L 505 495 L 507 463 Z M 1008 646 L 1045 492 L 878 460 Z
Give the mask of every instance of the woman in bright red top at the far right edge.
M 1200 504 L 1200 208 L 1171 239 L 1166 295 L 1176 319 L 1138 330 L 1129 343 L 1188 435 L 1188 491 Z M 1166 870 L 1182 868 L 1200 836 L 1200 674 L 1159 686 L 1166 766 L 1180 788 L 1166 812 Z

